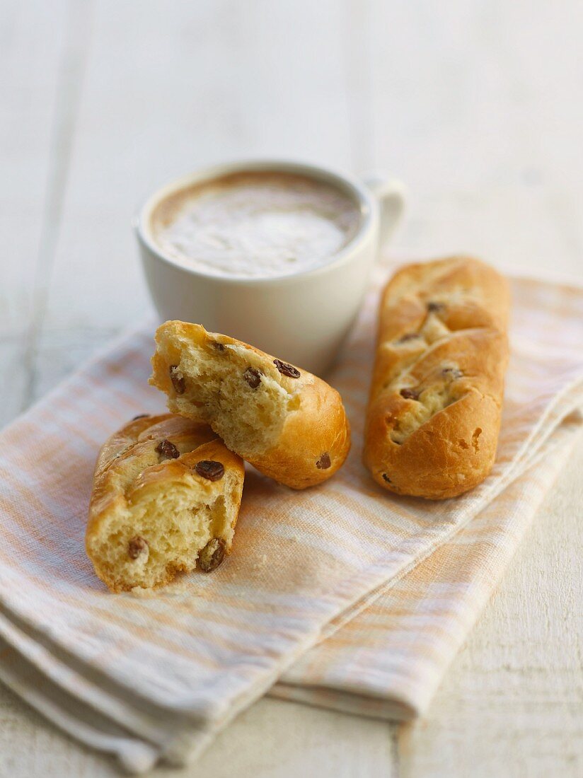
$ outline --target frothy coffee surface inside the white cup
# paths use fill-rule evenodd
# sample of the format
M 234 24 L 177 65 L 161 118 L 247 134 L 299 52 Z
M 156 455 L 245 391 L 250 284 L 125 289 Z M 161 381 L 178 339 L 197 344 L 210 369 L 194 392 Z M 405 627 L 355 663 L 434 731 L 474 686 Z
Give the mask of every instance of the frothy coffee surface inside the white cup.
M 293 275 L 331 260 L 356 234 L 360 207 L 339 188 L 296 173 L 245 172 L 204 181 L 153 210 L 164 254 L 213 275 Z

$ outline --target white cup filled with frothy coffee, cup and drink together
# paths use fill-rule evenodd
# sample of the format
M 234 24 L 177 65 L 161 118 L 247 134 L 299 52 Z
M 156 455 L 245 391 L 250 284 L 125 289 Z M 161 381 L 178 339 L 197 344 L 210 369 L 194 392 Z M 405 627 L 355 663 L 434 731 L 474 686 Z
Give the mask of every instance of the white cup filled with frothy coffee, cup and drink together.
M 402 208 L 398 181 L 262 160 L 172 181 L 134 226 L 164 321 L 202 324 L 322 374 Z

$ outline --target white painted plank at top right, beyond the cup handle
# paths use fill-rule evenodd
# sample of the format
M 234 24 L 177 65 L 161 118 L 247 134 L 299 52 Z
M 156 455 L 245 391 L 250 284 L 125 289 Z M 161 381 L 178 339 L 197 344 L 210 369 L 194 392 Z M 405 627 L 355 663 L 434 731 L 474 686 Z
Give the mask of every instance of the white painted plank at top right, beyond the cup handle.
M 371 0 L 378 167 L 409 184 L 398 240 L 583 279 L 583 6 Z

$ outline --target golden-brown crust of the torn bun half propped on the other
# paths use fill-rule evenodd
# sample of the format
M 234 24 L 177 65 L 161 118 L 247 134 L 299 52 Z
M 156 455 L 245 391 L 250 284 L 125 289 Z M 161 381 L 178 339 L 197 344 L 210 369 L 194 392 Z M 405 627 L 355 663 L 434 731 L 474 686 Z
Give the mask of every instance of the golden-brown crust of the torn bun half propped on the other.
M 278 370 L 276 359 L 269 354 L 227 335 L 209 333 L 200 324 L 167 321 L 156 331 L 156 346 L 150 383 L 168 395 L 168 408 L 191 419 L 208 422 L 224 437 L 227 445 L 265 475 L 293 489 L 305 489 L 330 478 L 342 466 L 350 447 L 349 422 L 342 398 L 325 381 L 301 368 L 296 368 L 298 377 L 290 377 Z M 244 443 L 237 447 L 230 443 L 221 427 L 220 413 L 188 391 L 191 381 L 188 369 L 184 367 L 183 352 L 189 347 L 203 349 L 217 364 L 229 358 L 231 348 L 232 355 L 234 352 L 240 357 L 243 355 L 255 370 L 260 371 L 262 380 L 267 377 L 289 393 L 289 409 L 274 444 L 257 450 Z M 183 395 L 177 394 L 177 387 L 170 377 L 173 364 L 180 365 L 181 374 L 184 374 L 187 391 Z M 262 391 L 262 387 L 254 390 L 241 380 L 243 398 L 251 398 L 253 391 Z

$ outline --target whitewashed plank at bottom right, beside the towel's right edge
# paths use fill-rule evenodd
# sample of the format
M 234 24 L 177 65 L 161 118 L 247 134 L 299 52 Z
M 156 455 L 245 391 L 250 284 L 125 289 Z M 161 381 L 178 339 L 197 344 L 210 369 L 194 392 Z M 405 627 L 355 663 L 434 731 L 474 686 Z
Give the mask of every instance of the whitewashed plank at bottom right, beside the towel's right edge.
M 583 773 L 583 440 L 427 719 L 402 727 L 408 778 Z

